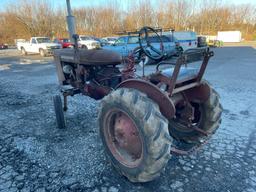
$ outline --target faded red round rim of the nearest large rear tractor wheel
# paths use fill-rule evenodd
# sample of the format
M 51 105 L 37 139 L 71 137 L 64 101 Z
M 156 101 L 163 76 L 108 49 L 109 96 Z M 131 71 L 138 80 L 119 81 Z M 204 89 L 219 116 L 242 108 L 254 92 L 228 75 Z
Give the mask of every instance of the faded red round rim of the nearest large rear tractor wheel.
M 104 137 L 112 155 L 126 167 L 137 167 L 143 158 L 143 142 L 131 117 L 120 109 L 106 114 Z

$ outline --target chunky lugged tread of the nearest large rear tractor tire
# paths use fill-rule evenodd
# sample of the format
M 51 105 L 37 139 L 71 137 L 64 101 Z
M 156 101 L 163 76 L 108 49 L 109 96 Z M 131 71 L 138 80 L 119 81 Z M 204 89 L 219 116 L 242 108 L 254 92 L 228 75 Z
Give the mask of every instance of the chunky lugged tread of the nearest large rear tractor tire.
M 99 121 L 103 118 L 103 108 L 115 102 L 125 105 L 135 117 L 143 122 L 141 131 L 145 137 L 147 150 L 143 170 L 136 175 L 121 170 L 118 165 L 114 167 L 132 182 L 151 181 L 160 175 L 170 159 L 172 138 L 168 131 L 168 121 L 161 114 L 158 105 L 146 94 L 128 88 L 117 89 L 103 98 Z

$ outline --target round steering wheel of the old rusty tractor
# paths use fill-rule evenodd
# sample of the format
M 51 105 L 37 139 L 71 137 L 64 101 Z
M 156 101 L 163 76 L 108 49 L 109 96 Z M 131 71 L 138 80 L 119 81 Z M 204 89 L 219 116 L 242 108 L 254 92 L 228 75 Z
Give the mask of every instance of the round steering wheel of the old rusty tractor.
M 155 48 L 154 46 L 152 46 L 150 39 L 149 39 L 149 33 L 155 33 L 156 34 L 156 38 L 159 39 L 160 42 L 160 49 Z M 146 43 L 146 45 L 143 45 Z M 163 58 L 164 56 L 164 50 L 163 50 L 163 41 L 162 38 L 158 35 L 158 33 L 151 27 L 143 27 L 141 28 L 140 32 L 139 32 L 139 45 L 141 50 L 145 53 L 145 55 L 147 55 L 150 59 L 153 60 L 160 60 Z

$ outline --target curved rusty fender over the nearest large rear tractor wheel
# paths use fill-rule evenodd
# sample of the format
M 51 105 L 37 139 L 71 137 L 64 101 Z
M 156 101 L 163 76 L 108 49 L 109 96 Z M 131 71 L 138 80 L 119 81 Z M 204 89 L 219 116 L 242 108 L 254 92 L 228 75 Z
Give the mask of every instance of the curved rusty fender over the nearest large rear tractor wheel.
M 173 101 L 167 96 L 166 93 L 148 81 L 141 79 L 128 79 L 121 82 L 116 87 L 116 89 L 118 88 L 131 88 L 141 91 L 159 105 L 162 115 L 164 115 L 168 120 L 175 116 L 176 110 Z

